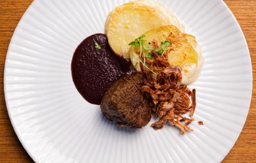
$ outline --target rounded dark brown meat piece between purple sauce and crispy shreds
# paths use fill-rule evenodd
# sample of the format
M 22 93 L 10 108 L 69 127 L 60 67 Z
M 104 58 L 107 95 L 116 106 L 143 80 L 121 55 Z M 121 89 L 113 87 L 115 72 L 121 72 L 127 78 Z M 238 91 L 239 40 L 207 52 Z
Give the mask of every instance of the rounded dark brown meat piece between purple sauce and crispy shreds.
M 151 108 L 141 92 L 140 73 L 117 80 L 104 94 L 100 104 L 103 115 L 119 125 L 143 127 L 151 119 Z

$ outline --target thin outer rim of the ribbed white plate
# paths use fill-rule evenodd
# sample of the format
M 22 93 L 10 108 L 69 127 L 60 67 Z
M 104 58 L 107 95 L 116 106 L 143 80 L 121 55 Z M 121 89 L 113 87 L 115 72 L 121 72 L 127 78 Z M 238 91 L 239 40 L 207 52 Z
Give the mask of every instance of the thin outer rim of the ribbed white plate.
M 16 37 L 17 35 L 17 29 L 19 29 L 19 26 L 20 24 L 24 21 L 24 16 L 26 14 L 28 14 L 28 11 L 33 8 L 33 6 L 35 5 L 35 2 L 36 1 L 39 1 L 39 0 L 34 0 L 32 1 L 32 3 L 28 6 L 28 8 L 26 9 L 26 11 L 23 13 L 22 17 L 20 17 L 20 20 L 17 24 L 17 26 L 15 27 L 15 30 L 13 31 L 13 35 L 12 35 L 12 38 L 10 39 L 10 43 L 8 45 L 8 50 L 6 52 L 6 59 L 4 61 L 4 74 L 3 74 L 3 85 L 4 85 L 4 99 L 5 99 L 5 103 L 6 103 L 6 110 L 8 111 L 8 116 L 10 118 L 10 122 L 12 124 L 12 127 L 13 127 L 13 130 L 15 131 L 15 134 L 17 136 L 17 138 L 19 139 L 22 147 L 26 150 L 26 152 L 28 153 L 29 157 L 31 157 L 31 159 L 33 159 L 33 161 L 35 162 L 39 162 L 39 160 L 35 157 L 35 155 L 33 155 L 33 153 L 31 153 L 28 149 L 28 146 L 26 145 L 25 141 L 22 140 L 21 136 L 20 136 L 20 133 L 19 131 L 17 130 L 17 126 L 15 125 L 14 123 L 14 120 L 13 120 L 13 116 L 12 116 L 12 113 L 10 111 L 10 106 L 9 106 L 9 102 L 8 102 L 8 98 L 7 98 L 7 91 L 6 91 L 6 85 L 7 85 L 7 81 L 6 81 L 6 65 L 8 64 L 7 63 L 7 60 L 8 60 L 8 56 L 10 55 L 10 48 L 12 47 L 13 45 L 13 39 Z M 132 0 L 131 0 L 132 1 Z M 250 106 L 249 108 L 246 108 L 246 117 L 243 117 L 243 127 L 241 127 L 241 130 L 239 131 L 239 134 L 236 136 L 236 141 L 234 141 L 232 143 L 232 146 L 229 150 L 227 150 L 225 154 L 225 157 L 227 157 L 228 153 L 232 150 L 232 148 L 234 147 L 234 145 L 236 144 L 237 142 L 237 139 L 239 138 L 239 136 L 241 135 L 241 132 L 243 131 L 243 128 L 244 128 L 244 125 L 245 125 L 245 122 L 246 122 L 246 119 L 248 117 L 248 113 L 249 113 L 249 110 L 251 108 L 251 104 L 252 104 L 252 93 L 253 93 L 253 71 L 252 71 L 252 58 L 251 58 L 251 55 L 250 55 L 250 50 L 249 50 L 249 47 L 248 47 L 248 43 L 246 41 L 246 38 L 244 36 L 244 32 L 243 32 L 243 29 L 241 28 L 241 25 L 239 24 L 239 22 L 237 21 L 237 18 L 235 17 L 234 13 L 232 13 L 232 11 L 230 10 L 230 8 L 228 7 L 228 5 L 225 3 L 225 1 L 223 0 L 218 0 L 219 3 L 223 4 L 226 8 L 226 10 L 228 10 L 228 13 L 231 15 L 232 19 L 236 22 L 236 25 L 237 27 L 239 27 L 239 32 L 242 34 L 242 39 L 243 39 L 243 42 L 245 43 L 246 45 L 246 52 L 247 52 L 247 56 L 248 57 L 248 60 L 249 60 L 249 63 L 250 63 L 250 74 L 248 74 L 250 76 L 250 83 L 251 83 L 251 87 L 250 87 L 250 90 L 248 91 L 248 93 L 250 92 Z M 223 159 L 221 159 L 220 161 L 224 160 L 225 157 L 223 157 Z

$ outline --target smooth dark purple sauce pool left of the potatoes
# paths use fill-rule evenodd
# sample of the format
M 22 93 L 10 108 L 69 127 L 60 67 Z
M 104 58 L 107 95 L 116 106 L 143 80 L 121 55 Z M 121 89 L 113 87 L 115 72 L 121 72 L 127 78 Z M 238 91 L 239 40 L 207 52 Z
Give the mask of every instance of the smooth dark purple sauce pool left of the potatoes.
M 95 41 L 100 50 L 95 48 Z M 92 104 L 100 104 L 109 87 L 125 74 L 131 74 L 131 60 L 116 55 L 105 34 L 93 34 L 77 46 L 71 64 L 78 92 Z

